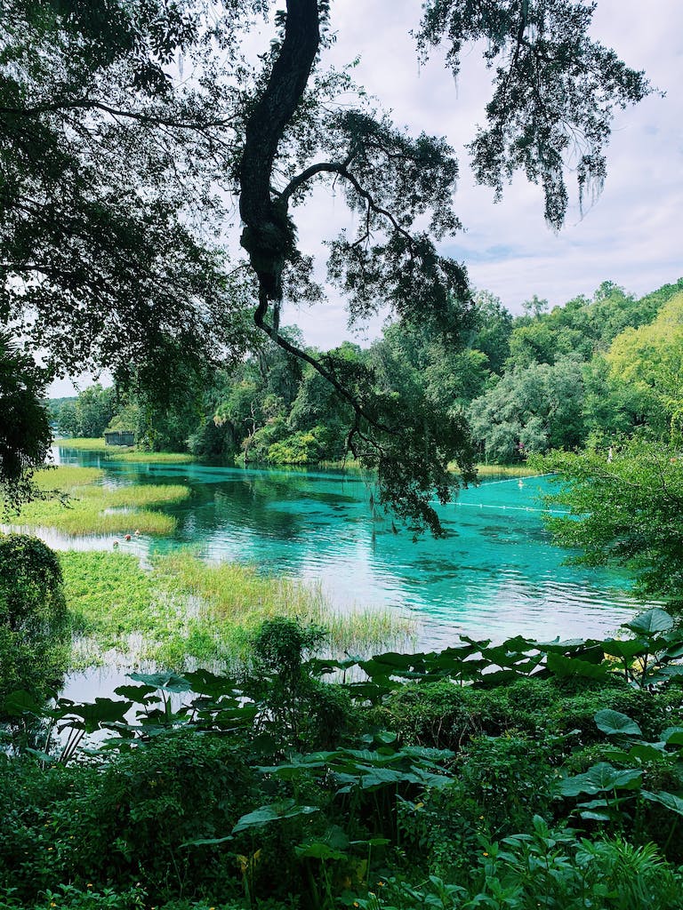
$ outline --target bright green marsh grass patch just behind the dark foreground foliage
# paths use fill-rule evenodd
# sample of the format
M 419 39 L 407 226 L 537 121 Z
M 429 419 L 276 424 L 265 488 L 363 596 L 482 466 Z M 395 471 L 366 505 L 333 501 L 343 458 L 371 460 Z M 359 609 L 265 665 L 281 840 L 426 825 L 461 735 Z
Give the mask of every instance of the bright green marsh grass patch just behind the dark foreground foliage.
M 370 653 L 412 641 L 414 624 L 390 611 L 335 611 L 320 585 L 207 565 L 189 552 L 158 557 L 152 571 L 117 552 L 59 554 L 75 633 L 73 668 L 153 663 L 181 672 L 247 660 L 265 619 L 299 617 L 329 630 L 326 650 Z

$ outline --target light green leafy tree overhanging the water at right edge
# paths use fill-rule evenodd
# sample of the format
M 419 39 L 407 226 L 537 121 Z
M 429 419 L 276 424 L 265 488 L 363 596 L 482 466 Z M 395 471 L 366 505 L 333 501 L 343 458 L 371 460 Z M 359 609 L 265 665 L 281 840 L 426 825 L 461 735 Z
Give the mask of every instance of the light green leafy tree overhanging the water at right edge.
M 683 602 L 683 461 L 677 449 L 643 440 L 587 451 L 553 452 L 537 462 L 557 474 L 548 501 L 569 510 L 546 523 L 572 561 L 635 572 L 645 599 Z

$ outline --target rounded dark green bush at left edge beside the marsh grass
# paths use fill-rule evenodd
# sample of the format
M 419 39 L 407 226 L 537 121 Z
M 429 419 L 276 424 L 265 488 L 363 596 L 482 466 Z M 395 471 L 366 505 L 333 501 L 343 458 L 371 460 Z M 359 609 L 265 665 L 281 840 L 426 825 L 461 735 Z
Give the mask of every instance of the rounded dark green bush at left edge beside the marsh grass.
M 68 639 L 56 554 L 34 537 L 0 535 L 0 718 L 9 693 L 44 698 L 58 685 Z

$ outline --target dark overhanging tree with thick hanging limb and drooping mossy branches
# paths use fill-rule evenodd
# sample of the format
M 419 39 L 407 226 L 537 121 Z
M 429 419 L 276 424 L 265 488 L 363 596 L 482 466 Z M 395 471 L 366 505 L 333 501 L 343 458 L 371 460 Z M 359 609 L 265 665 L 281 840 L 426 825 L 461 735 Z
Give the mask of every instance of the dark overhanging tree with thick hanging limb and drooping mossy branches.
M 169 371 L 186 362 L 199 369 L 226 349 L 240 356 L 240 314 L 254 293 L 257 327 L 350 405 L 349 446 L 378 470 L 382 501 L 438 532 L 429 500 L 434 490 L 442 501 L 451 495 L 449 462 L 474 477 L 464 422 L 434 419 L 419 397 L 398 412 L 371 368 L 316 358 L 279 322 L 283 302 L 320 297 L 294 214 L 314 187 L 333 184 L 359 213 L 355 236 L 329 242 L 328 274 L 352 319 L 388 306 L 462 345 L 471 293 L 464 268 L 437 248 L 460 227 L 457 163 L 443 138 L 408 136 L 360 93 L 355 106 L 336 103 L 354 86 L 348 73 L 323 68 L 328 0 L 287 0 L 270 52 L 250 65 L 240 38 L 270 6 L 233 0 L 217 21 L 213 7 L 191 0 L 39 9 L 5 0 L 11 66 L 0 116 L 4 186 L 13 188 L 4 190 L 0 309 L 52 351 L 55 369 L 97 361 L 125 377 L 132 362 L 168 389 Z M 567 167 L 581 194 L 599 186 L 615 107 L 648 91 L 642 74 L 589 37 L 591 15 L 570 0 L 428 0 L 418 31 L 419 53 L 446 45 L 454 72 L 465 43 L 486 47 L 494 95 L 471 146 L 474 173 L 499 194 L 522 169 L 544 188 L 555 227 Z M 195 67 L 192 79 L 174 82 L 178 53 Z M 201 213 L 226 238 L 221 200 L 231 189 L 250 273 L 230 270 L 206 231 L 200 239 L 190 228 Z M 26 305 L 38 315 L 30 324 Z

